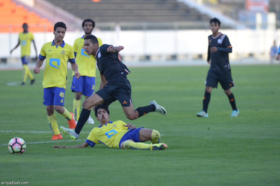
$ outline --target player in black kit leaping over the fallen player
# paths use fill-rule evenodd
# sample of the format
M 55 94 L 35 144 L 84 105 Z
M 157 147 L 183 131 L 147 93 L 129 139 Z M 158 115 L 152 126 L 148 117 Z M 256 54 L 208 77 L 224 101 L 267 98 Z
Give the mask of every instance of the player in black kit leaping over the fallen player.
M 166 115 L 164 107 L 151 101 L 145 107 L 138 107 L 134 110 L 131 99 L 131 85 L 126 75 L 129 69 L 121 62 L 120 52 L 124 47 L 113 47 L 103 44 L 98 47 L 98 40 L 95 36 L 89 35 L 84 38 L 85 51 L 88 55 L 94 55 L 101 75 L 99 90 L 83 102 L 83 109 L 80 114 L 75 130 L 60 127 L 61 131 L 69 135 L 73 140 L 78 139 L 81 129 L 90 115 L 91 107 L 105 103 L 106 106 L 118 100 L 121 103 L 126 117 L 130 120 L 137 119 L 149 112 L 159 112 Z

